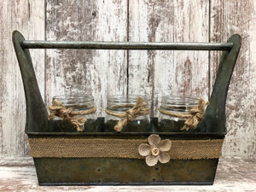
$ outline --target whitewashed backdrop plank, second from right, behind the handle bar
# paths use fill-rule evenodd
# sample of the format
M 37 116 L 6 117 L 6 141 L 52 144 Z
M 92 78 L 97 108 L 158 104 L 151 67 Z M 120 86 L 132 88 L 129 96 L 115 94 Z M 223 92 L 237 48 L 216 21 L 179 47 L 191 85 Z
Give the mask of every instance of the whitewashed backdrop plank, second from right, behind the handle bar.
M 207 42 L 207 1 L 129 3 L 129 40 Z M 196 11 L 195 11 L 196 10 Z M 130 51 L 129 93 L 146 96 L 157 116 L 161 96 L 208 96 L 207 51 Z

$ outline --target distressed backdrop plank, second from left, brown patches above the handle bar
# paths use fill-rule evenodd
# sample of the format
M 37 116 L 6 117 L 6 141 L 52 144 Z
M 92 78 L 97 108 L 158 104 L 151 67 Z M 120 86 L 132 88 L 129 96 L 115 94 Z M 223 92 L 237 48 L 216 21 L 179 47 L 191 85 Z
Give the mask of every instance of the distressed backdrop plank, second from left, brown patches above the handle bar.
M 47 1 L 47 40 L 126 40 L 126 1 Z M 126 92 L 125 50 L 55 49 L 46 52 L 46 101 L 85 94 L 104 116 L 106 98 Z

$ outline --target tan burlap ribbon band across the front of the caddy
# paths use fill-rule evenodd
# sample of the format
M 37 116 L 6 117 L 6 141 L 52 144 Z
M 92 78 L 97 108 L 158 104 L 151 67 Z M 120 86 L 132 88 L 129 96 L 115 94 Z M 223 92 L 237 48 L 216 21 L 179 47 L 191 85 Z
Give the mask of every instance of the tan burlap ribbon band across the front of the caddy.
M 147 139 L 29 138 L 32 157 L 84 158 L 116 157 L 143 159 L 138 146 Z M 172 160 L 200 160 L 221 157 L 224 139 L 172 140 Z

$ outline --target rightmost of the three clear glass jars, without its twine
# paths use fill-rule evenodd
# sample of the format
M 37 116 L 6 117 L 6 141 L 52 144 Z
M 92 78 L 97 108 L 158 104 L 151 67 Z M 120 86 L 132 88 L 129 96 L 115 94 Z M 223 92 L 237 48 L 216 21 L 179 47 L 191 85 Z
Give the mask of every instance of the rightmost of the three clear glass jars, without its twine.
M 178 114 L 189 114 L 191 108 L 198 105 L 199 99 L 195 97 L 183 96 L 162 96 L 160 109 Z M 163 132 L 197 132 L 196 129 L 189 131 L 181 130 L 186 118 L 173 117 L 172 115 L 159 113 L 159 131 Z

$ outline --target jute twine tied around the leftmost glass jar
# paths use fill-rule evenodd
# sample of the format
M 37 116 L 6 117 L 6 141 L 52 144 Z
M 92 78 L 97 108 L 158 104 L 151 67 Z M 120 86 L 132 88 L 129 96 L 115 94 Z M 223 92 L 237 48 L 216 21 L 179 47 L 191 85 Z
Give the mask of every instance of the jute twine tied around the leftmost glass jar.
M 65 106 L 59 102 L 57 99 L 54 100 L 49 108 L 49 116 L 48 119 L 52 119 L 54 116 L 60 117 L 63 120 L 67 120 L 71 124 L 75 125 L 77 131 L 84 131 L 84 123 L 87 122 L 86 118 L 75 118 L 77 115 L 96 113 L 96 107 L 90 108 L 88 110 L 83 111 L 73 111 L 71 108 L 65 108 Z

